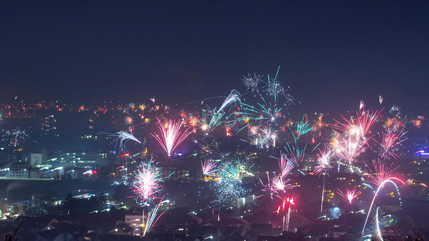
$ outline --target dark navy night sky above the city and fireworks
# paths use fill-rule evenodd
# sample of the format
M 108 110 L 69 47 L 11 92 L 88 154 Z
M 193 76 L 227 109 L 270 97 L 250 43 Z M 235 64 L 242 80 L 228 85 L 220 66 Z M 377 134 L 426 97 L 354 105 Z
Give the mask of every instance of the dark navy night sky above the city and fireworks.
M 303 105 L 428 106 L 428 1 L 2 1 L 0 27 L 0 101 L 187 103 L 280 65 Z

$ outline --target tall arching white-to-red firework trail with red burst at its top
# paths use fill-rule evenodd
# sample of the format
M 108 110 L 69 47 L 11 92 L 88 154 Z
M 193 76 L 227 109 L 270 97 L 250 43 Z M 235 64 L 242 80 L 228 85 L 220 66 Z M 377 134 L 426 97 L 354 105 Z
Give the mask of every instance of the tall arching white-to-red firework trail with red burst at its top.
M 377 194 L 381 190 L 381 188 L 383 188 L 387 182 L 390 182 L 396 186 L 396 184 L 394 183 L 394 180 L 399 181 L 400 183 L 405 185 L 404 181 L 392 176 L 393 171 L 396 170 L 396 168 L 398 168 L 399 166 L 392 168 L 393 164 L 390 164 L 390 167 L 388 167 L 384 164 L 384 162 L 376 161 L 376 160 L 373 160 L 372 164 L 374 166 L 374 172 L 371 170 L 368 170 L 366 174 L 368 175 L 368 182 L 378 185 L 378 188 L 377 188 L 377 191 L 375 191 L 374 197 L 372 198 L 371 205 L 369 205 L 368 215 L 366 216 L 365 223 L 363 224 L 361 236 L 363 236 L 366 223 L 368 222 L 369 214 L 371 213 L 372 205 L 374 205 L 375 198 L 377 197 Z M 397 188 L 397 191 L 398 191 L 398 188 Z

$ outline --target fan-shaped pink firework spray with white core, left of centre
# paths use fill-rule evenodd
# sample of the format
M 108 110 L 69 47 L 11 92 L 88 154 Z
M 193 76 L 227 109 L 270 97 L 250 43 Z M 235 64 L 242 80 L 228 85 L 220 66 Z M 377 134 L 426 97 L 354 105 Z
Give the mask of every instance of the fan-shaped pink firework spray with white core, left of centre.
M 158 119 L 158 118 L 157 118 Z M 161 131 L 161 137 L 158 136 L 156 133 L 151 134 L 155 137 L 155 139 L 160 143 L 160 145 L 163 147 L 163 149 L 167 152 L 167 155 L 170 156 L 172 151 L 187 137 L 189 136 L 190 132 L 188 131 L 190 127 L 188 127 L 183 132 L 180 131 L 181 125 L 183 124 L 182 121 L 175 122 L 174 120 L 170 119 L 169 123 L 166 126 L 163 126 L 163 124 L 158 119 L 158 122 L 160 125 L 158 126 Z

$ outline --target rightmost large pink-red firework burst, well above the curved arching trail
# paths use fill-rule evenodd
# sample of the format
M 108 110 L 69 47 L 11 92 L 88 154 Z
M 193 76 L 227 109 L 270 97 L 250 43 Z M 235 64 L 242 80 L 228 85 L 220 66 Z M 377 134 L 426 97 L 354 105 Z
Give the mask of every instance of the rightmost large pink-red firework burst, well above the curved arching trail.
M 393 153 L 393 151 L 396 149 L 396 146 L 398 146 L 400 143 L 402 143 L 405 139 L 401 138 L 407 133 L 408 131 L 404 132 L 404 129 L 399 130 L 399 131 L 393 131 L 390 128 L 387 128 L 386 132 L 381 132 L 381 143 L 378 143 L 382 150 L 383 153 L 381 154 L 381 158 L 387 159 L 390 156 L 395 158 L 396 160 L 398 160 L 397 158 L 399 158 L 399 156 L 395 153 Z

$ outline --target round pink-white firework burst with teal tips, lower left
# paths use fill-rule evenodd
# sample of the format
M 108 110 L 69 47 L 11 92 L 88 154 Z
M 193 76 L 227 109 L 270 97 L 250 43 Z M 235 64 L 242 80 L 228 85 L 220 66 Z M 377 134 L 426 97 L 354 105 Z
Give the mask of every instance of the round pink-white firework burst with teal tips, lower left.
M 140 164 L 133 176 L 131 189 L 142 202 L 153 201 L 164 188 L 162 183 L 165 178 L 162 177 L 161 170 L 152 165 L 152 161 Z

